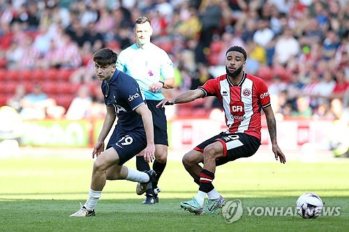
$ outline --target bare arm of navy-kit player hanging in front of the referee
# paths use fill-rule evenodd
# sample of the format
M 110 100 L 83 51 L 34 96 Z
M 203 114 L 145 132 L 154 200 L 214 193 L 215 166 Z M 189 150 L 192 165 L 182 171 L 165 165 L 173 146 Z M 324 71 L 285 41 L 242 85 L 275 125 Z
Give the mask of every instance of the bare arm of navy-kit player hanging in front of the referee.
M 151 116 L 151 111 L 148 109 L 147 105 L 141 105 L 135 109 L 135 111 L 142 116 L 144 130 L 147 134 L 147 148 L 144 149 L 144 160 L 147 162 L 153 162 L 153 160 L 155 160 L 155 144 L 153 117 Z

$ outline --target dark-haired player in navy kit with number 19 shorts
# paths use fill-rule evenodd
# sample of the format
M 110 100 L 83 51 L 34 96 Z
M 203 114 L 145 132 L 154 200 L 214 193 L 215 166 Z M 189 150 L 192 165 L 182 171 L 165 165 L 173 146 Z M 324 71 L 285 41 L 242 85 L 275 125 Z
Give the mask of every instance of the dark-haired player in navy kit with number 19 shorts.
M 154 160 L 154 129 L 144 96 L 137 82 L 116 69 L 117 54 L 111 49 L 100 49 L 94 54 L 94 70 L 102 82 L 107 114 L 101 133 L 92 152 L 95 156 L 89 196 L 80 210 L 70 217 L 94 216 L 94 208 L 101 197 L 106 180 L 131 180 L 145 188 L 156 176 L 153 170 L 147 172 L 128 168 L 123 164 L 144 150 L 147 162 Z M 104 140 L 118 116 L 117 125 L 104 150 Z

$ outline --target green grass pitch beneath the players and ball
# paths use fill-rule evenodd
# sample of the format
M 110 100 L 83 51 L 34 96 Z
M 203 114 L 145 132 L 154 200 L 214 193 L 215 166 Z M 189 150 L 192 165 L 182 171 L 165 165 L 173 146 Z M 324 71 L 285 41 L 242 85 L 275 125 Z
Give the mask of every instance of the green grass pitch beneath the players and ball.
M 92 160 L 47 155 L 0 159 L 0 231 L 348 231 L 349 160 L 302 163 L 230 162 L 216 170 L 214 185 L 227 201 L 242 201 L 232 224 L 221 214 L 192 215 L 179 208 L 198 190 L 180 162 L 168 162 L 159 186 L 160 203 L 143 206 L 135 183 L 107 181 L 96 217 L 70 218 L 89 191 Z M 135 167 L 134 160 L 127 163 Z M 339 216 L 248 215 L 246 208 L 295 206 L 315 192 Z

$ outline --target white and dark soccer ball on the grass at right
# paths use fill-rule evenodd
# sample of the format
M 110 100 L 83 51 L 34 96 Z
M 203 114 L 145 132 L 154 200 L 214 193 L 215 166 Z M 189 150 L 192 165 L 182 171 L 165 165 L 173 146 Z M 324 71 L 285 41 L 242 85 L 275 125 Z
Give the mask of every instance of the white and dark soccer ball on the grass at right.
M 306 192 L 296 201 L 298 214 L 303 218 L 315 218 L 322 212 L 323 203 L 320 197 L 314 193 Z

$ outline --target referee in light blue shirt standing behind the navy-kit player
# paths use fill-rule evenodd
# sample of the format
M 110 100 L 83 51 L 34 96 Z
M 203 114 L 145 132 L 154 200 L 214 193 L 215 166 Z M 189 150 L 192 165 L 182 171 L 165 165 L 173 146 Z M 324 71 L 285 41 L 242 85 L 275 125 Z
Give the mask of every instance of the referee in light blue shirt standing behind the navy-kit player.
M 135 20 L 135 43 L 121 51 L 117 59 L 117 69 L 133 77 L 140 85 L 153 116 L 156 147 L 153 169 L 156 178 L 151 181 L 147 190 L 142 188 L 143 185 L 137 185 L 137 194 L 146 192 L 143 204 L 158 203 L 158 180 L 168 157 L 168 132 L 165 109 L 157 109 L 156 105 L 165 98 L 161 89 L 174 87 L 173 63 L 163 49 L 150 42 L 152 32 L 149 18 L 138 17 Z M 136 164 L 139 171 L 150 169 L 149 164 L 144 162 L 142 153 L 137 156 Z

